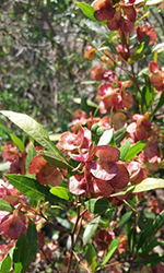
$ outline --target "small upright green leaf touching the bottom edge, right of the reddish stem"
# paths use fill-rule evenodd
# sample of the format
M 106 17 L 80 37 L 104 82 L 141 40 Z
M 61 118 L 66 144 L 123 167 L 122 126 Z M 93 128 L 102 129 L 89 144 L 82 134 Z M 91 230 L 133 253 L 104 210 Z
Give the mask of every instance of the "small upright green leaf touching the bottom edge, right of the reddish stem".
M 86 253 L 84 259 L 87 261 L 91 272 L 94 273 L 96 268 L 96 251 L 92 244 L 86 245 Z

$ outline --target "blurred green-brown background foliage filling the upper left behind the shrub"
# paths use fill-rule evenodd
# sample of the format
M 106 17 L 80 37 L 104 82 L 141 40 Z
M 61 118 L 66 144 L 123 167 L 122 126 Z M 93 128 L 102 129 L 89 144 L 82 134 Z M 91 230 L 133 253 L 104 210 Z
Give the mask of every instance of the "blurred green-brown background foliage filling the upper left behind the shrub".
M 164 14 L 156 5 L 149 12 L 145 21 L 153 19 L 161 43 Z M 83 91 L 91 99 L 95 96 L 85 46 L 94 40 L 99 45 L 108 33 L 87 20 L 75 0 L 1 0 L 0 108 L 26 112 L 49 130 L 66 130 L 79 107 L 74 97 Z

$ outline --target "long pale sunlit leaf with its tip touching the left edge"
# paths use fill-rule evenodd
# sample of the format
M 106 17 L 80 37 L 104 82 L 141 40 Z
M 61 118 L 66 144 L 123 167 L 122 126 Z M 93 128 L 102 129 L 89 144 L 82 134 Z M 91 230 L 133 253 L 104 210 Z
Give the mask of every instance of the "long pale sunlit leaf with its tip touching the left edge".
M 42 128 L 42 126 L 37 121 L 35 121 L 25 114 L 7 110 L 0 112 L 8 117 L 13 123 L 19 126 L 25 133 L 31 135 L 43 147 L 54 151 L 52 143 L 50 144 L 47 132 Z

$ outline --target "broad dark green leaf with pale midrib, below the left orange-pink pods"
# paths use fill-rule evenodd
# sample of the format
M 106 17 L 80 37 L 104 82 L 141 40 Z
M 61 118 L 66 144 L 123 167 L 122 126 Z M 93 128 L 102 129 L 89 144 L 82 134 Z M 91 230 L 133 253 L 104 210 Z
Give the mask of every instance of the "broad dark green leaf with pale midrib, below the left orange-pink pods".
M 34 198 L 36 201 L 55 202 L 55 197 L 49 192 L 49 188 L 40 185 L 37 180 L 21 175 L 7 175 L 8 181 L 23 194 Z

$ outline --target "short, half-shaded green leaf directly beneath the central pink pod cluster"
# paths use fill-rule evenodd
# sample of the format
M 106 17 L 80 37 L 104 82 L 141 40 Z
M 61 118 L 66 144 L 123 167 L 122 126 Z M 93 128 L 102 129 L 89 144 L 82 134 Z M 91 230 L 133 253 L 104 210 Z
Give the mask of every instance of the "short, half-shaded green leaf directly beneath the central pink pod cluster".
M 85 202 L 86 209 L 93 214 L 103 214 L 109 207 L 109 202 L 106 199 L 90 199 Z

